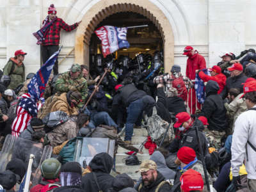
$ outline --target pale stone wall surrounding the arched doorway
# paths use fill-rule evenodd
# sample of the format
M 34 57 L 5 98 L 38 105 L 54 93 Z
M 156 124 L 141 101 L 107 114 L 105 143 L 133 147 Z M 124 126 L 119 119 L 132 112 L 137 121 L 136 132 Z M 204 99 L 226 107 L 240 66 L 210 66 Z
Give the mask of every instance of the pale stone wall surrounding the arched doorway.
M 83 34 L 90 19 L 104 7 L 118 3 L 138 4 L 152 13 L 163 28 L 166 71 L 175 63 L 186 70 L 186 57 L 182 50 L 192 45 L 205 56 L 207 65 L 220 61 L 221 52 L 239 54 L 243 49 L 256 47 L 256 1 L 253 0 L 2 0 L 0 4 L 0 67 L 17 49 L 28 52 L 26 73 L 36 72 L 40 66 L 40 46 L 32 35 L 47 16 L 51 3 L 57 15 L 68 24 L 82 20 L 75 31 L 61 32 L 63 49 L 59 61 L 76 48 L 60 65 L 64 72 L 74 61 L 88 61 Z M 165 31 L 164 31 L 165 30 Z M 82 63 L 81 63 L 82 64 Z

